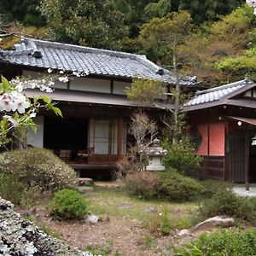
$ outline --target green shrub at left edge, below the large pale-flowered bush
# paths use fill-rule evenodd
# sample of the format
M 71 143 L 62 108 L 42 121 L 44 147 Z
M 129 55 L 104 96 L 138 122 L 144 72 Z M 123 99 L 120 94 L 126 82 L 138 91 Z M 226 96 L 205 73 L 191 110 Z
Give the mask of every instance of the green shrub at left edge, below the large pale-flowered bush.
M 15 205 L 20 204 L 20 201 L 25 194 L 25 188 L 22 183 L 14 175 L 0 171 L 0 196 Z

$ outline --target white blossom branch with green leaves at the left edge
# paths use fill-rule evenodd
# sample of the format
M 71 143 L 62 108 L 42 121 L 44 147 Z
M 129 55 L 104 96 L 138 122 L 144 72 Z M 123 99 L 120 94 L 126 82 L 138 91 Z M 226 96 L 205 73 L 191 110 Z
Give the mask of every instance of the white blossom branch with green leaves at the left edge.
M 12 79 L 10 82 L 1 77 L 0 84 L 0 147 L 11 141 L 13 131 L 19 128 L 32 128 L 37 130 L 33 119 L 40 108 L 47 108 L 55 114 L 62 116 L 61 110 L 55 107 L 55 103 L 48 96 L 34 97 L 32 101 L 24 94 L 25 89 L 44 90 L 52 92 L 50 86 L 54 85 L 55 76 L 26 80 L 22 78 Z

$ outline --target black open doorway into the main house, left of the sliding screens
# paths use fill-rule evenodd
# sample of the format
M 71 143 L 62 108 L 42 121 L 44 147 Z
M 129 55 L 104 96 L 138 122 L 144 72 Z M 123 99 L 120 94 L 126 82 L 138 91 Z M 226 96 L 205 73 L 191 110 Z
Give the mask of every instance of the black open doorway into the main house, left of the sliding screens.
M 69 149 L 71 159 L 79 150 L 87 148 L 88 119 L 44 119 L 44 148 Z

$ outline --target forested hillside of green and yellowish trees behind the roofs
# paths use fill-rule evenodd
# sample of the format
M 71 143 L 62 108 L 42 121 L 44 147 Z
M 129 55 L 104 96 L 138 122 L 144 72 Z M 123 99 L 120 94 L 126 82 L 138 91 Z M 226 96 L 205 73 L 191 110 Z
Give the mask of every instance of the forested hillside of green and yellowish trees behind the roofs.
M 188 26 L 175 48 L 183 73 L 215 86 L 256 70 L 255 19 L 243 0 L 0 0 L 0 14 L 3 49 L 24 35 L 145 54 L 172 69 L 175 23 L 177 32 Z

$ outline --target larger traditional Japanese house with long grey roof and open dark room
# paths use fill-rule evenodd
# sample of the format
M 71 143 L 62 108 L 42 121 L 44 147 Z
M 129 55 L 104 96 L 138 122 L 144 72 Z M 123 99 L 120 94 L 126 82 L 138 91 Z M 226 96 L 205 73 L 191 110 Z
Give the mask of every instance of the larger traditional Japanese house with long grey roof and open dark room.
M 132 79 L 175 84 L 172 73 L 144 55 L 27 38 L 21 39 L 13 50 L 0 51 L 0 67 L 8 79 L 16 75 L 33 79 L 49 68 L 71 75 L 67 83 L 56 82 L 55 91 L 49 95 L 58 102 L 64 118 L 41 113 L 36 120 L 38 132 L 29 132 L 27 144 L 52 149 L 75 169 L 95 169 L 94 173 L 112 169 L 126 152 L 127 123 L 138 107 L 137 102 L 125 96 L 125 87 L 131 86 Z M 183 78 L 181 84 L 187 90 L 195 90 L 198 85 L 190 77 Z M 26 90 L 30 97 L 42 94 L 39 90 Z M 159 111 L 149 107 L 153 115 Z

